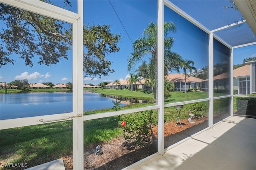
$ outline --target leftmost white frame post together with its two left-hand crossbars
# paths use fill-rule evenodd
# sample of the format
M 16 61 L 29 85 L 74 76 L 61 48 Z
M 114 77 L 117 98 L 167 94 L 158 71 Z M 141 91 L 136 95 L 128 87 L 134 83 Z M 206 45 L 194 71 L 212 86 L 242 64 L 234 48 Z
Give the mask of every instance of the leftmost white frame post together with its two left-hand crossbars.
M 73 119 L 73 168 L 83 170 L 83 0 L 78 0 L 78 14 L 40 0 L 0 0 L 0 2 L 73 25 L 73 113 L 1 120 L 0 129 Z

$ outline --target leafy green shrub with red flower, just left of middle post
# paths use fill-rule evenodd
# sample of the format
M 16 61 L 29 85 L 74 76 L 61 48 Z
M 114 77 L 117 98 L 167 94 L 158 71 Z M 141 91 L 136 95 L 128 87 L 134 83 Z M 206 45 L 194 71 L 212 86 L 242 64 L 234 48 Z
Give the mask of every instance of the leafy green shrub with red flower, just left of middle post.
M 134 141 L 136 145 L 144 145 L 154 137 L 152 125 L 156 125 L 156 117 L 152 110 L 140 111 L 120 116 L 118 124 L 122 127 L 124 139 Z

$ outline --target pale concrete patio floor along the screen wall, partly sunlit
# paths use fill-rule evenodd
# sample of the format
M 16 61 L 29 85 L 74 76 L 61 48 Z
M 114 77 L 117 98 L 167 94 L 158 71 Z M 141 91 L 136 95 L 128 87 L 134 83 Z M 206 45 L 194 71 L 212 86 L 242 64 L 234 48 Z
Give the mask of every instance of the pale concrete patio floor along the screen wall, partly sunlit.
M 132 170 L 255 170 L 256 119 L 230 117 Z

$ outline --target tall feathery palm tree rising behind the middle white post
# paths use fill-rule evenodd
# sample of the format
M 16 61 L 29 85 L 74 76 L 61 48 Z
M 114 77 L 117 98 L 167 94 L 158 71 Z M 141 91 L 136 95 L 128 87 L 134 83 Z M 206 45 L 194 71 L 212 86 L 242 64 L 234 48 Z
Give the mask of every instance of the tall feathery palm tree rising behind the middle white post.
M 164 23 L 164 55 L 166 59 L 170 59 L 175 57 L 180 57 L 179 55 L 174 55 L 172 53 L 171 48 L 174 43 L 174 39 L 172 37 L 168 37 L 168 33 L 170 31 L 174 32 L 176 27 L 172 22 Z M 148 27 L 144 30 L 142 37 L 138 38 L 133 43 L 133 52 L 128 60 L 128 71 L 134 69 L 138 62 L 141 62 L 143 57 L 151 54 L 150 63 L 149 63 L 149 84 L 153 86 L 154 93 L 154 102 L 156 102 L 156 88 L 157 88 L 157 25 L 154 23 L 150 23 Z M 168 55 L 168 56 L 167 56 Z M 171 62 L 170 62 L 171 63 Z

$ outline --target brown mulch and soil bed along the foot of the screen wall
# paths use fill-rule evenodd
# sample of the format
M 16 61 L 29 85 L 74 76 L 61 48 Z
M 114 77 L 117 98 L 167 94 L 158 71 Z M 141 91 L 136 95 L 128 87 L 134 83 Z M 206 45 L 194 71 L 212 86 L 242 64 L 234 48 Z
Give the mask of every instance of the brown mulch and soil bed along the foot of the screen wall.
M 208 127 L 208 119 L 201 118 L 195 119 L 195 123 L 189 123 L 188 119 L 180 120 L 180 123 L 175 127 L 176 122 L 165 123 L 164 124 L 164 141 L 165 146 L 168 147 L 182 139 L 176 139 L 174 135 L 181 138 L 186 138 L 190 133 L 196 133 L 202 128 L 204 129 L 205 125 Z M 195 130 L 192 130 L 192 129 Z M 152 128 L 154 135 L 157 137 L 158 127 L 155 126 Z M 187 132 L 186 130 L 189 130 Z M 194 132 L 195 131 L 195 132 Z M 182 136 L 182 133 L 185 135 Z M 192 135 L 192 134 L 191 134 Z M 176 139 L 178 141 L 173 141 L 170 139 Z M 157 152 L 157 141 L 150 139 L 146 146 L 143 147 L 134 147 L 133 143 L 128 143 L 122 137 L 120 139 L 113 139 L 110 143 L 102 143 L 101 145 L 103 154 L 96 155 L 96 145 L 91 145 L 84 148 L 84 170 L 120 170 L 123 169 L 139 160 L 146 158 Z M 73 159 L 72 154 L 62 157 L 66 170 L 73 169 Z

